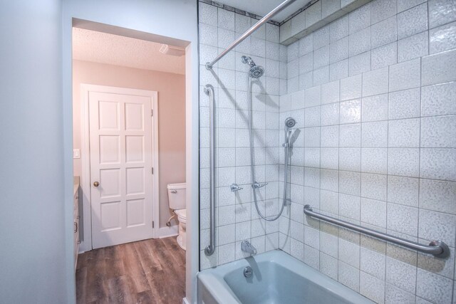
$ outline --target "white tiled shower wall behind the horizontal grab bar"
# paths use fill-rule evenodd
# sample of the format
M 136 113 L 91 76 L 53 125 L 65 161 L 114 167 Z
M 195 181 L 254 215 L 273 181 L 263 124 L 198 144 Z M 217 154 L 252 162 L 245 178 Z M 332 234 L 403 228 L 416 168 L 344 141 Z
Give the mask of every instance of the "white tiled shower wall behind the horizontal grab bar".
M 456 301 L 455 21 L 454 0 L 375 0 L 287 48 L 279 121 L 298 129 L 279 246 L 377 303 Z M 319 223 L 304 204 L 451 256 Z

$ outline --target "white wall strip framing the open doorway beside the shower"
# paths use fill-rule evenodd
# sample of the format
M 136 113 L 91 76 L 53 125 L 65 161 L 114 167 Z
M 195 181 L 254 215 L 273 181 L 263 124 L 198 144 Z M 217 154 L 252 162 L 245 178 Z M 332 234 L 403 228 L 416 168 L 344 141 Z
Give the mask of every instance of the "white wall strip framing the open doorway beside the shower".
M 198 87 L 197 87 L 197 2 L 190 0 L 113 1 L 63 0 L 63 120 L 64 166 L 66 190 L 66 223 L 71 223 L 72 154 L 72 93 L 71 93 L 71 26 L 73 18 L 129 28 L 145 33 L 189 41 L 186 65 L 187 125 L 187 299 L 192 302 L 198 270 Z M 119 28 L 119 31 L 121 29 Z M 192 47 L 193 46 L 193 47 Z M 194 144 L 194 145 L 192 145 Z M 190 148 L 191 147 L 191 148 Z M 195 226 L 195 229 L 192 229 Z M 71 231 L 66 231 L 70 238 Z M 195 246 L 195 250 L 192 247 Z M 71 252 L 67 248 L 67 255 Z

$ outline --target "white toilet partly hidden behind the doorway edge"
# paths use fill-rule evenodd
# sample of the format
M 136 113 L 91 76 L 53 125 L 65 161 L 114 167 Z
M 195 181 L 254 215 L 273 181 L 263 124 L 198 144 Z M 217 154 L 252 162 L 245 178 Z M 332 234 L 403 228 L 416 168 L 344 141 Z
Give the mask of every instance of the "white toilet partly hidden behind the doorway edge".
M 168 201 L 170 209 L 177 215 L 179 221 L 179 236 L 177 236 L 177 244 L 185 250 L 187 244 L 187 214 L 185 210 L 185 188 L 186 184 L 168 184 Z

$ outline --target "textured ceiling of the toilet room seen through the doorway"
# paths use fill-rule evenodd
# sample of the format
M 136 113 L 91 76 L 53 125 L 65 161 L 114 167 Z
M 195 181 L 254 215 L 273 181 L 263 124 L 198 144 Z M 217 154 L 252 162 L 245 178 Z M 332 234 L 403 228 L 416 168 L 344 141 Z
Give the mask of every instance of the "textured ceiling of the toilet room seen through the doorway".
M 161 43 L 73 28 L 73 59 L 185 74 L 185 56 L 160 53 Z

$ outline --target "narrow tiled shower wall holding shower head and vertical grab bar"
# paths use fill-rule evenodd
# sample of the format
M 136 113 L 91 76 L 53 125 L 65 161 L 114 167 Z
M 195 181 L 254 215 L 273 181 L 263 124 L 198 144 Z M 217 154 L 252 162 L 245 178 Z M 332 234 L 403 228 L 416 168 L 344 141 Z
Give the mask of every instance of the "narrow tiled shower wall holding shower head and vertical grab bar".
M 266 73 L 252 84 L 254 164 L 261 188 L 259 206 L 268 216 L 279 207 L 279 95 L 286 93 L 286 46 L 279 45 L 279 26 L 267 23 L 234 51 L 214 65 L 204 66 L 258 20 L 245 14 L 199 2 L 200 70 L 200 261 L 201 268 L 244 258 L 240 242 L 249 240 L 261 253 L 277 248 L 279 221 L 259 219 L 252 204 L 248 131 L 249 66 L 241 56 L 252 56 Z M 215 90 L 216 115 L 216 249 L 204 254 L 209 244 L 209 97 L 204 85 Z M 244 189 L 231 192 L 230 185 Z

